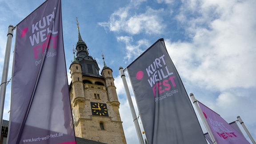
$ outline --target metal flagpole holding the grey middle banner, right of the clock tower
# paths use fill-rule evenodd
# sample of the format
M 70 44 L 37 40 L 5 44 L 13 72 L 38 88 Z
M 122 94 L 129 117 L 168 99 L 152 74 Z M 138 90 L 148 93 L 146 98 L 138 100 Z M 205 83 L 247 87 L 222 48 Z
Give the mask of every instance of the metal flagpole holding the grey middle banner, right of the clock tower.
M 126 93 L 127 100 L 128 100 L 131 112 L 132 112 L 132 118 L 133 118 L 133 122 L 134 122 L 134 125 L 135 125 L 135 128 L 136 128 L 137 135 L 139 137 L 140 144 L 144 144 L 144 140 L 143 140 L 143 137 L 142 137 L 142 134 L 141 134 L 141 131 L 140 131 L 140 125 L 139 125 L 139 122 L 138 122 L 138 119 L 137 119 L 137 116 L 136 116 L 134 106 L 132 104 L 131 94 L 129 92 L 127 81 L 126 81 L 126 78 L 125 78 L 125 75 L 124 75 L 124 68 L 120 67 L 119 72 L 120 72 L 121 78 L 123 80 L 125 93 Z

